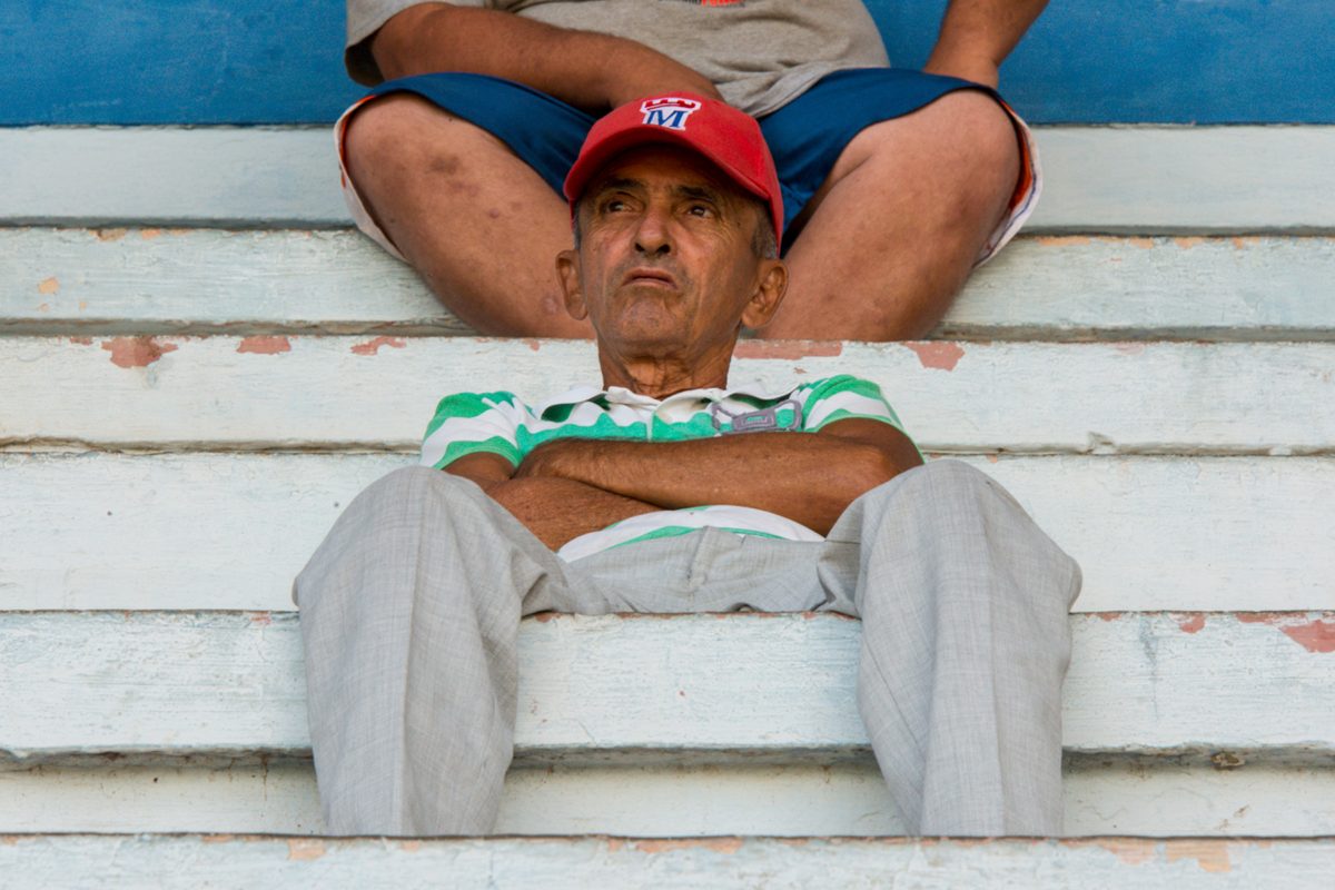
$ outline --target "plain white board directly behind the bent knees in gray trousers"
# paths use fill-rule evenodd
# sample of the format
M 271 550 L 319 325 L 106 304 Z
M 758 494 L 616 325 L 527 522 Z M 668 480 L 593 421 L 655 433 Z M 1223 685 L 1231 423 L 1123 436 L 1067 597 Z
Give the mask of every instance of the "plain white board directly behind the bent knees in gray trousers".
M 1335 610 L 1330 458 L 967 462 L 1080 562 L 1077 611 Z M 351 498 L 411 463 L 0 454 L 0 610 L 290 610 L 292 578 Z

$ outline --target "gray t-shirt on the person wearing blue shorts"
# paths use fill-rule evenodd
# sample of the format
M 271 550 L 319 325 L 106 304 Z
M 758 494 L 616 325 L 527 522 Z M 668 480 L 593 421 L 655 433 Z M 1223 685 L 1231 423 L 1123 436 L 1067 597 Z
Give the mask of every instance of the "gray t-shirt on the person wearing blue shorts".
M 415 1 L 347 0 L 344 63 L 354 80 L 383 80 L 363 41 Z M 890 64 L 862 0 L 455 0 L 454 5 L 635 40 L 698 71 L 729 104 L 757 117 L 832 71 Z

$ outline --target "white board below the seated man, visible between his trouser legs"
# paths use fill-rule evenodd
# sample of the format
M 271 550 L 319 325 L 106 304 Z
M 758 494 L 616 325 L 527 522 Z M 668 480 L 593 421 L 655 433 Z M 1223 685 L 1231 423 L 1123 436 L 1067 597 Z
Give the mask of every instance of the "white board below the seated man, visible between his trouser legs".
M 1331 762 L 1335 614 L 1129 612 L 1071 624 L 1068 757 Z M 860 634 L 860 622 L 829 614 L 527 619 L 517 765 L 862 759 Z M 720 671 L 720 652 L 748 670 Z M 9 612 L 0 669 L 0 758 L 12 766 L 308 750 L 292 614 Z

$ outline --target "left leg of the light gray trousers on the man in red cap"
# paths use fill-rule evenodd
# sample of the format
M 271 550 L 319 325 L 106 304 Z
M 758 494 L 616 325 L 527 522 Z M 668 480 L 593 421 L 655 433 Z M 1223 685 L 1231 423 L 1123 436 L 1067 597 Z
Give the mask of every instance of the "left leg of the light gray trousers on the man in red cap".
M 514 747 L 519 618 L 609 611 L 471 482 L 362 492 L 294 586 L 320 802 L 336 834 L 483 834 Z

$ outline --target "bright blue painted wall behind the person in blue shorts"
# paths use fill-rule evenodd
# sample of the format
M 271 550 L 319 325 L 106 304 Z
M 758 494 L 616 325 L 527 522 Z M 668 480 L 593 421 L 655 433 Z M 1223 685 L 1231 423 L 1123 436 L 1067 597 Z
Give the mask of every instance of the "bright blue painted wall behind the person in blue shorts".
M 868 5 L 921 64 L 945 0 Z M 1335 0 L 1053 0 L 1003 91 L 1035 123 L 1335 123 L 1332 35 Z M 331 121 L 342 36 L 342 0 L 0 0 L 0 125 Z

